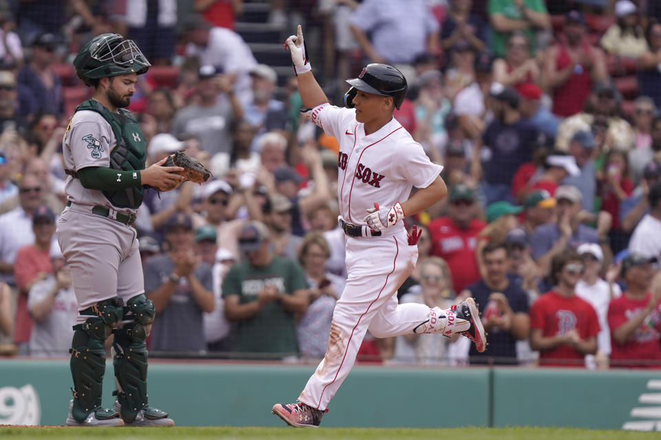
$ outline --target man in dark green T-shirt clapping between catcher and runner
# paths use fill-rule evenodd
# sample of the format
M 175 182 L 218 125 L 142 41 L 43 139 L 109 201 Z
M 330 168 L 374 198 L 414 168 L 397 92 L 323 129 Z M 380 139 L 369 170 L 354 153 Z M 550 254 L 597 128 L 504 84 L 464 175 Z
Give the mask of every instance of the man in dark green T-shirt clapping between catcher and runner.
M 238 325 L 232 351 L 251 353 L 251 358 L 297 355 L 295 315 L 304 314 L 309 303 L 300 265 L 274 256 L 269 244 L 264 223 L 247 223 L 239 236 L 244 259 L 231 267 L 222 285 L 225 316 Z

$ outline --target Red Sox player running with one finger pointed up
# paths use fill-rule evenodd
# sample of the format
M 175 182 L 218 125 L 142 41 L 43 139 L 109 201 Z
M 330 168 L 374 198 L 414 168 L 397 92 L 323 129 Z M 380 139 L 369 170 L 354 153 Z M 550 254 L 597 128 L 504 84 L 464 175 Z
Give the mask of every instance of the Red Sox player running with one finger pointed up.
M 486 340 L 472 298 L 447 310 L 397 304 L 395 292 L 418 258 L 419 234 L 408 236 L 402 220 L 447 193 L 439 177 L 443 167 L 432 164 L 392 117 L 406 96 L 406 79 L 395 67 L 367 65 L 358 78 L 347 80 L 348 108 L 335 107 L 311 72 L 300 25 L 285 45 L 308 117 L 339 142 L 337 197 L 346 241 L 346 287 L 333 311 L 324 360 L 297 403 L 273 406 L 273 413 L 290 426 L 317 427 L 367 330 L 377 338 L 461 333 L 478 351 L 484 351 Z M 419 190 L 409 198 L 414 185 Z

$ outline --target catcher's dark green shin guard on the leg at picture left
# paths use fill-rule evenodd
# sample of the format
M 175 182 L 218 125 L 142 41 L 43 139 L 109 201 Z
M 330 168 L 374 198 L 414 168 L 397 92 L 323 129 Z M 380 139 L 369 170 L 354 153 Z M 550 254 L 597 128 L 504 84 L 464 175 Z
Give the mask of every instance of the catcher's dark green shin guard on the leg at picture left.
M 94 325 L 97 329 L 106 327 L 99 318 Z M 108 327 L 109 328 L 109 327 Z M 105 329 L 102 329 L 105 334 Z M 84 329 L 74 331 L 71 352 L 71 375 L 74 380 L 74 404 L 72 417 L 83 422 L 96 412 L 97 419 L 112 419 L 116 417 L 115 410 L 101 408 L 101 392 L 103 391 L 103 374 L 105 373 L 105 339 L 90 336 Z

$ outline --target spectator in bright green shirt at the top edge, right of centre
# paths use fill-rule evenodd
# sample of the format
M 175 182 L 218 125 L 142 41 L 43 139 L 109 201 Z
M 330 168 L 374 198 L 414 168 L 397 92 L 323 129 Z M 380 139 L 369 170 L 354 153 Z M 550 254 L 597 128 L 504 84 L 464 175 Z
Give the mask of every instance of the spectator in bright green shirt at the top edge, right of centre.
M 551 27 L 551 19 L 543 0 L 489 0 L 488 11 L 494 56 L 505 56 L 507 36 L 512 32 L 523 31 L 527 40 L 534 42 L 534 31 L 549 30 Z M 532 56 L 535 50 L 535 44 L 532 44 Z

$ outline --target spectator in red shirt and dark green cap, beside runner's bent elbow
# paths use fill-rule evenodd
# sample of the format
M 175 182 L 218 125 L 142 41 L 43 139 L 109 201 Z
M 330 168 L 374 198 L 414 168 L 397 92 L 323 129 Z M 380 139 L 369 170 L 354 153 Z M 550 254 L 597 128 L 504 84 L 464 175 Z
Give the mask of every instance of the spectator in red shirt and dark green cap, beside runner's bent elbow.
M 432 255 L 448 262 L 456 292 L 480 279 L 475 248 L 477 235 L 486 223 L 475 219 L 477 210 L 474 190 L 466 184 L 457 184 L 450 190 L 448 216 L 434 219 L 428 225 Z

